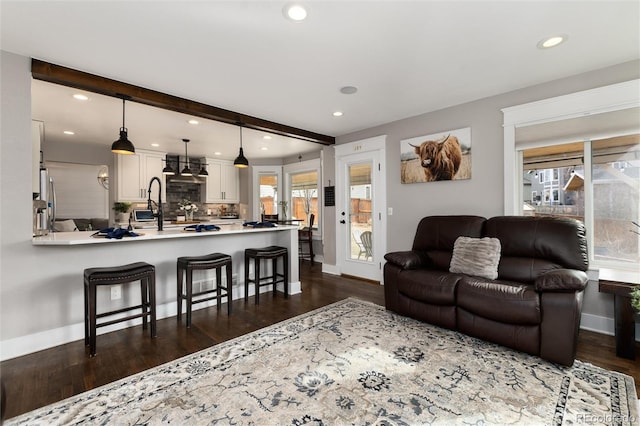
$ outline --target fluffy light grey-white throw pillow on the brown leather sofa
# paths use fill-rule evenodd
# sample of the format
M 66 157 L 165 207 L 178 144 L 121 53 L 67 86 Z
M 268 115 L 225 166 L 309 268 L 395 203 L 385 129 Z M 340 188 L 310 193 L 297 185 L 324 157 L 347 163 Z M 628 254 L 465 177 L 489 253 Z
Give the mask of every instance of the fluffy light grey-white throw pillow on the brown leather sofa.
M 453 244 L 449 272 L 476 277 L 498 278 L 500 240 L 497 238 L 458 237 Z

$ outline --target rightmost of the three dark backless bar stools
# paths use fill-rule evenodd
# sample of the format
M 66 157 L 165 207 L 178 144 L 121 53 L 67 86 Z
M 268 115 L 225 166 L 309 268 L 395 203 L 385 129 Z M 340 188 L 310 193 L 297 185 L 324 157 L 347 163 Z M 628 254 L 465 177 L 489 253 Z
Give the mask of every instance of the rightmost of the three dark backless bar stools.
M 282 273 L 278 273 L 278 259 L 282 258 Z M 260 263 L 263 259 L 271 260 L 272 275 L 260 275 Z M 249 263 L 254 261 L 253 279 L 249 279 Z M 263 282 L 264 281 L 264 282 Z M 278 283 L 284 284 L 284 297 L 289 297 L 289 250 L 286 247 L 269 246 L 263 248 L 248 248 L 244 251 L 244 300 L 249 300 L 249 283 L 254 283 L 256 289 L 256 305 L 260 302 L 260 287 L 273 285 L 275 296 Z

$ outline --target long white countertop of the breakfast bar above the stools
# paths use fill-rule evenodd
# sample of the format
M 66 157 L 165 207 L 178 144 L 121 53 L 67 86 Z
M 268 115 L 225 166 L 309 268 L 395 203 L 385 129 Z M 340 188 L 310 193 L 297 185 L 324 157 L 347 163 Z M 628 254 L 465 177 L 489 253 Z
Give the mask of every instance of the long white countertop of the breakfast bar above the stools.
M 229 234 L 245 234 L 252 232 L 277 232 L 297 230 L 297 226 L 291 225 L 278 225 L 273 228 L 252 228 L 248 226 L 242 226 L 240 224 L 225 224 L 220 226 L 219 231 L 185 231 L 186 225 L 180 225 L 158 231 L 157 229 L 134 229 L 133 232 L 139 234 L 137 237 L 124 237 L 122 239 L 95 237 L 92 236 L 96 231 L 76 231 L 76 232 L 54 232 L 49 235 L 40 237 L 33 237 L 33 245 L 36 246 L 70 246 L 81 244 L 118 244 L 128 243 L 135 241 L 150 241 L 150 240 L 164 240 L 173 238 L 203 238 L 214 237 L 216 235 L 229 235 Z

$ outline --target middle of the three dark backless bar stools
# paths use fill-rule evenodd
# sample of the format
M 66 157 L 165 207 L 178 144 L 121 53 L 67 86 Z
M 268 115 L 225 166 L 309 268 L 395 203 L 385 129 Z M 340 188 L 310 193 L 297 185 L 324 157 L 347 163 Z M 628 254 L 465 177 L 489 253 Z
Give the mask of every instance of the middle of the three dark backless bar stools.
M 227 284 L 222 285 L 222 268 L 226 267 Z M 216 270 L 216 286 L 211 290 L 193 292 L 193 271 L 195 270 Z M 184 275 L 187 281 L 184 285 L 186 292 L 183 292 Z M 224 292 L 223 292 L 224 290 Z M 220 310 L 222 298 L 227 298 L 227 313 L 231 314 L 232 301 L 232 272 L 231 256 L 222 253 L 212 253 L 204 256 L 184 256 L 178 258 L 178 321 L 182 319 L 182 300 L 187 302 L 187 328 L 191 327 L 191 311 L 195 303 L 206 302 L 217 299 L 216 306 Z M 214 296 L 193 300 L 193 296 L 215 293 Z

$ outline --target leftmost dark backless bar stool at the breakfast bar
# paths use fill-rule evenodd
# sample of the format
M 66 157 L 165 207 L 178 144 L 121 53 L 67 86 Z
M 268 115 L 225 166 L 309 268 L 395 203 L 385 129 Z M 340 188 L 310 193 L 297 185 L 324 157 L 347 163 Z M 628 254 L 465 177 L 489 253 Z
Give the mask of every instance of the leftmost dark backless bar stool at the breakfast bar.
M 140 281 L 140 305 L 96 313 L 96 289 Z M 98 318 L 141 309 L 141 313 L 97 323 Z M 89 346 L 89 355 L 96 356 L 96 329 L 122 321 L 142 317 L 142 328 L 147 328 L 147 317 L 151 320 L 151 337 L 156 337 L 156 269 L 145 262 L 130 263 L 107 268 L 84 270 L 84 344 Z

